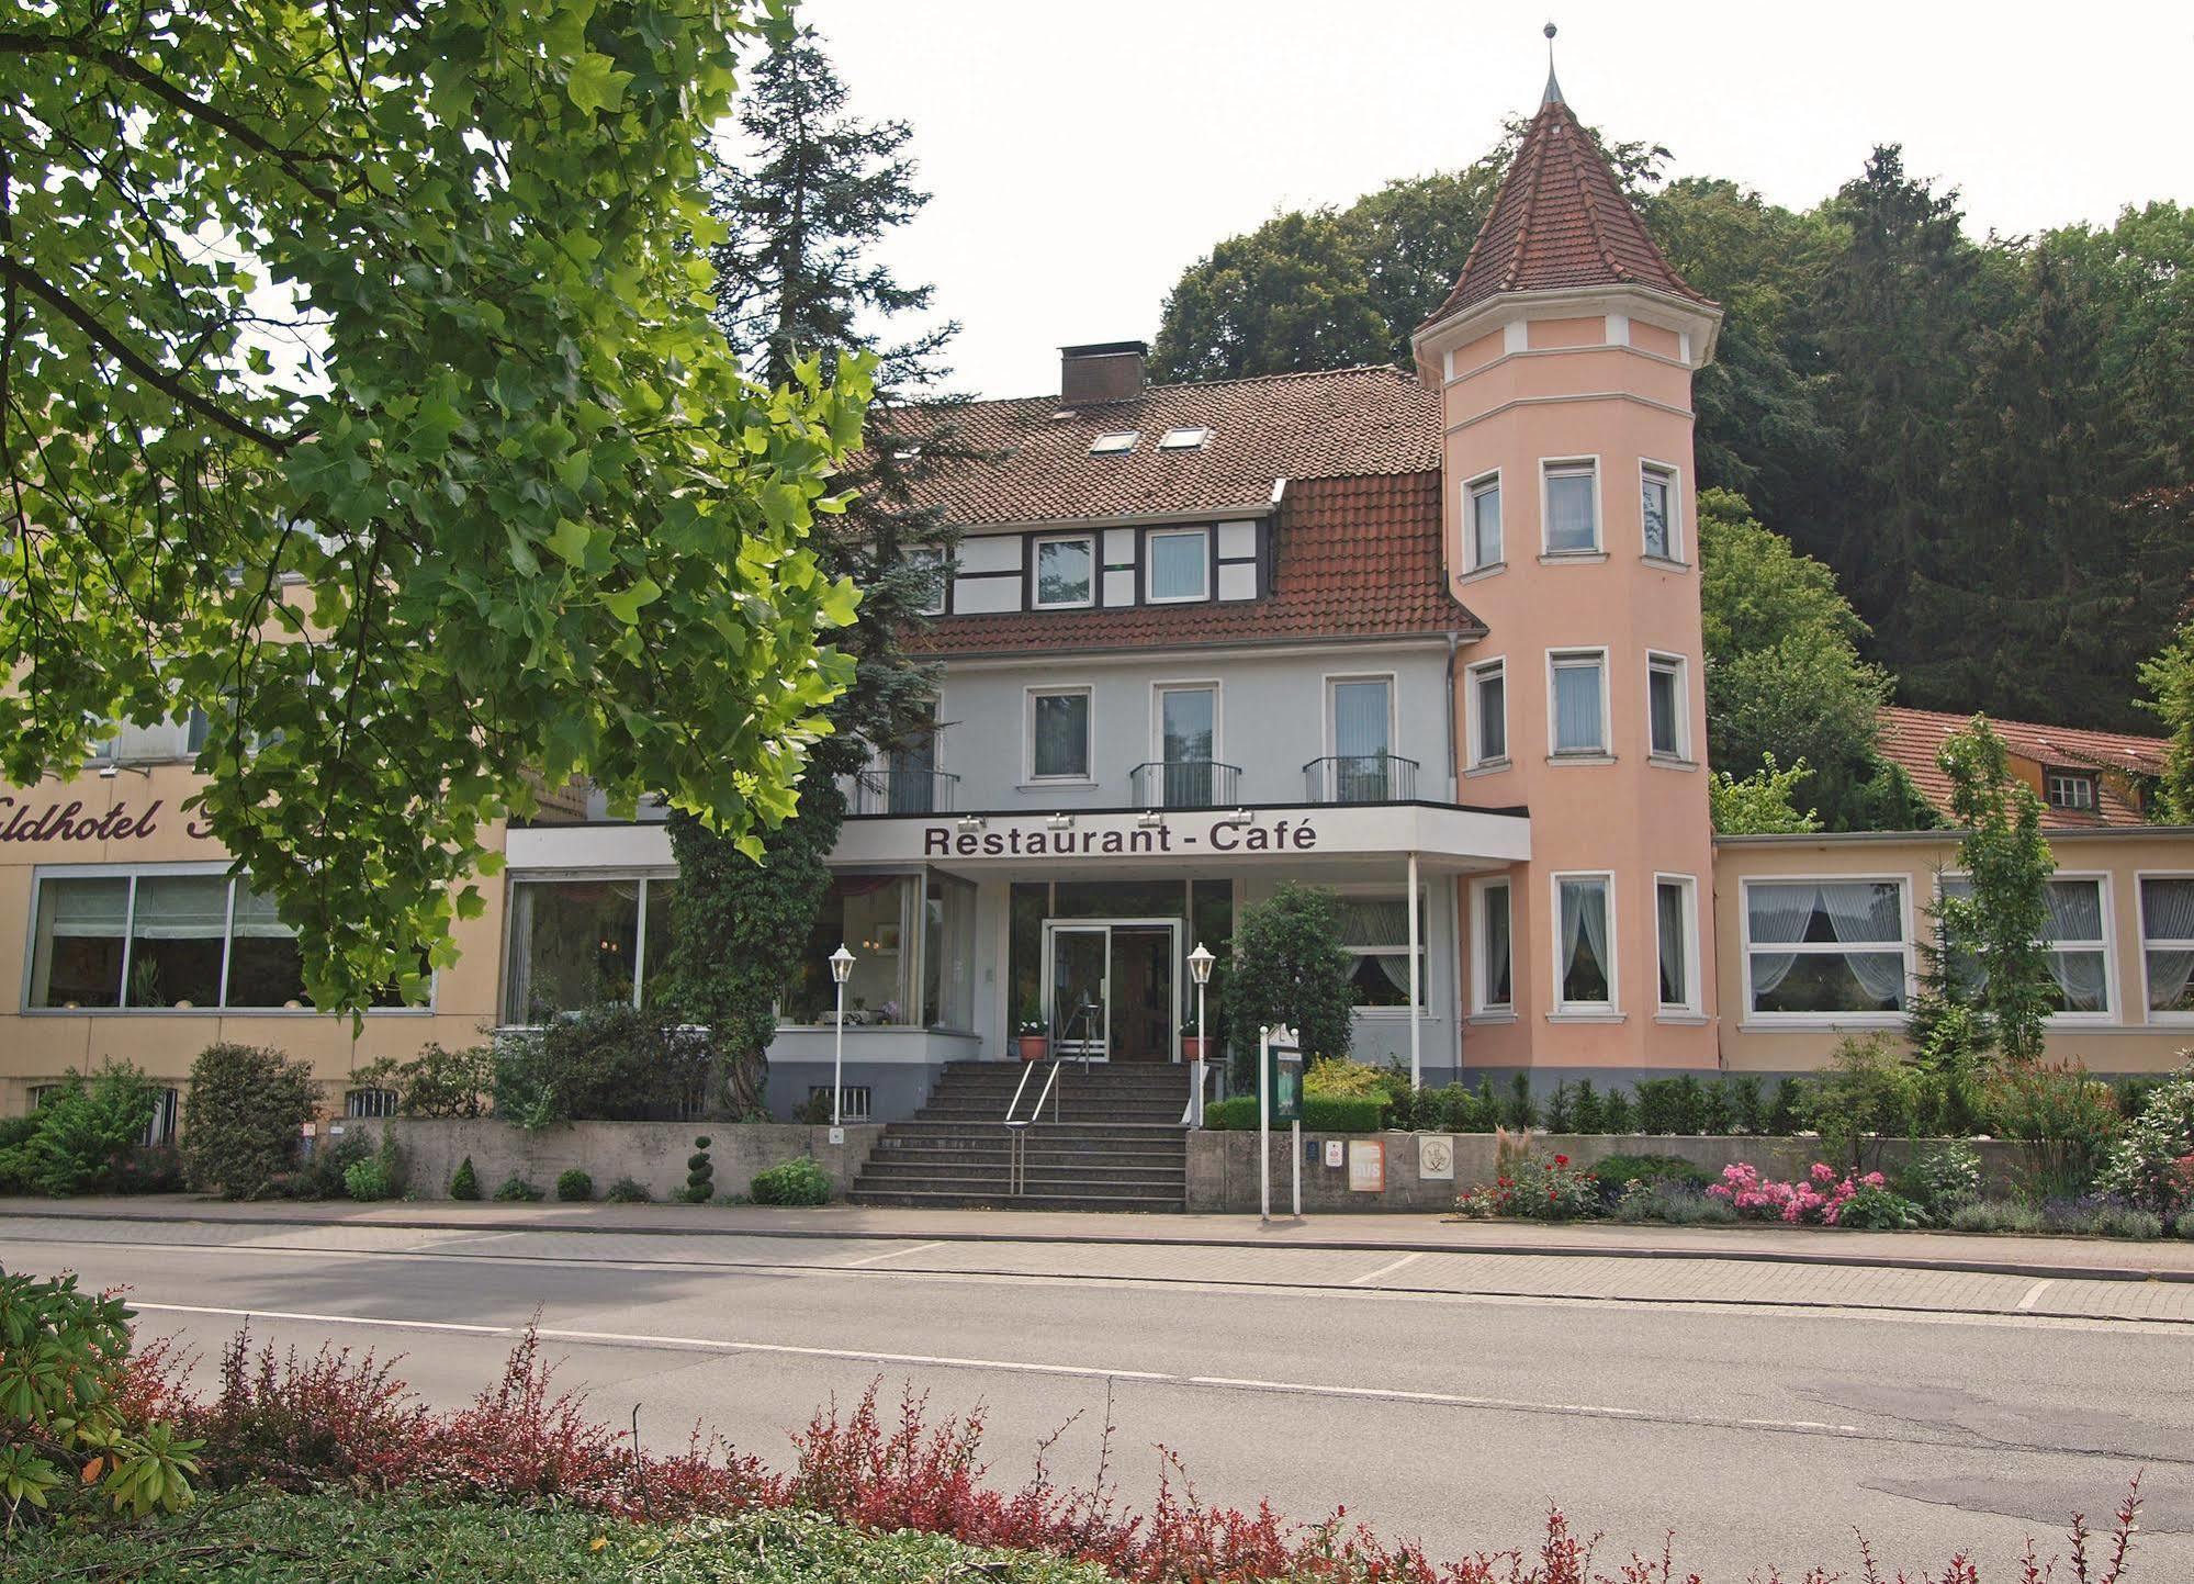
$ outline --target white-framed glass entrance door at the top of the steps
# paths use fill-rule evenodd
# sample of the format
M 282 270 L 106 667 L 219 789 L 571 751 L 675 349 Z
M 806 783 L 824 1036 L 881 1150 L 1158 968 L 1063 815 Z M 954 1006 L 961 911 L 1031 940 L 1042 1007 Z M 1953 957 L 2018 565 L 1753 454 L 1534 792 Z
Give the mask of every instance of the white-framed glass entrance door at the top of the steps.
M 1090 1062 L 1172 1062 L 1178 919 L 1044 924 L 1051 1053 Z

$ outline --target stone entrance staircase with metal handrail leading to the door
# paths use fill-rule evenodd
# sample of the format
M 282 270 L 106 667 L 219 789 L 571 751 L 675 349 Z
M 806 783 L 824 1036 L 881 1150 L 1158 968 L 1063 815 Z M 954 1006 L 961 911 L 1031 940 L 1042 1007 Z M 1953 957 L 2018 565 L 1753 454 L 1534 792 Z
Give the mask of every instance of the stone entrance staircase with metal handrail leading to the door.
M 1060 1082 L 1031 1123 L 1022 1191 L 1011 1193 L 1005 1110 L 1020 1062 L 952 1062 L 913 1121 L 884 1128 L 853 1178 L 853 1204 L 987 1207 L 1040 1211 L 1180 1211 L 1189 1191 L 1189 1145 L 1180 1112 L 1187 1066 L 1062 1062 Z M 1049 1064 L 1029 1071 L 1020 1117 L 1029 1115 Z

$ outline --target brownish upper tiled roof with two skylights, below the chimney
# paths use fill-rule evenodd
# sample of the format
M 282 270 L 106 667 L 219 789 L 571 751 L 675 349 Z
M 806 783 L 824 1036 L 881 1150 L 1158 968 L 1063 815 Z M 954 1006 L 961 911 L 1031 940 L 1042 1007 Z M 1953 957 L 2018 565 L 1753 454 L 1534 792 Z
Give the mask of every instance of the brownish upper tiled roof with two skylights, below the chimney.
M 1062 408 L 1058 397 L 972 401 L 961 437 L 996 461 L 926 483 L 961 527 L 1205 511 L 1268 500 L 1275 478 L 1409 474 L 1439 467 L 1439 397 L 1400 369 L 1145 386 L 1126 401 Z M 917 434 L 908 408 L 897 428 Z M 1158 450 L 1169 428 L 1207 428 L 1202 448 Z M 1090 456 L 1099 434 L 1134 430 L 1128 452 Z

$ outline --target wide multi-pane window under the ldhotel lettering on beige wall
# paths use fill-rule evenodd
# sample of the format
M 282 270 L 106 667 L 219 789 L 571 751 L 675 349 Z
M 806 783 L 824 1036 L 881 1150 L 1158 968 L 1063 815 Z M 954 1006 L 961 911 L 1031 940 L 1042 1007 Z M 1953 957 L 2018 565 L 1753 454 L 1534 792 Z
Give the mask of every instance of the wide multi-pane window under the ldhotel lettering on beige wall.
M 224 873 L 143 871 L 39 878 L 24 1005 L 276 1011 L 312 998 L 272 897 Z

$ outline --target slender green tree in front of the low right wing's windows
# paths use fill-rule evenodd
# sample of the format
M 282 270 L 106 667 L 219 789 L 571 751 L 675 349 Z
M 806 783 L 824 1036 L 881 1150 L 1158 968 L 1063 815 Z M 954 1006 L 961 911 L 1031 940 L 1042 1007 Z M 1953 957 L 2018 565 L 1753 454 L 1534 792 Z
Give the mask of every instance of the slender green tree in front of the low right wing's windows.
M 2043 1051 L 2043 1025 L 2058 1007 L 2049 974 L 2049 875 L 2056 856 L 2043 838 L 2043 801 L 2012 774 L 2003 737 L 1975 715 L 1972 726 L 1942 744 L 1942 772 L 1950 777 L 1950 812 L 1964 834 L 1957 867 L 1970 891 L 1935 904 L 1942 952 L 1975 963 L 1953 972 L 1981 1014 L 1997 1049 L 2014 1062 Z

